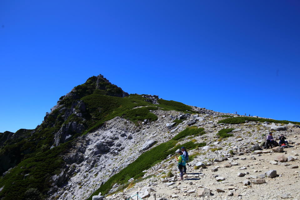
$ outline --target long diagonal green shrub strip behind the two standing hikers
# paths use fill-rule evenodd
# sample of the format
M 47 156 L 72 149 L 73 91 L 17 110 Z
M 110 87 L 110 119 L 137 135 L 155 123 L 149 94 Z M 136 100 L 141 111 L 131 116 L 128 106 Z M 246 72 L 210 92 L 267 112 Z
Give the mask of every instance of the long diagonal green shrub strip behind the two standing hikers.
M 139 178 L 143 176 L 143 171 L 152 167 L 154 164 L 161 162 L 167 158 L 168 155 L 174 154 L 175 151 L 184 146 L 187 149 L 203 147 L 206 143 L 193 143 L 187 142 L 184 144 L 176 145 L 178 140 L 188 135 L 199 135 L 203 133 L 203 128 L 188 127 L 182 132 L 178 133 L 174 138 L 168 142 L 161 143 L 158 146 L 146 151 L 140 155 L 133 163 L 130 163 L 126 168 L 122 169 L 119 173 L 113 175 L 103 185 L 101 185 L 93 194 L 87 199 L 92 200 L 94 195 L 98 195 L 99 192 L 106 194 L 115 183 L 128 183 L 130 178 Z M 203 133 L 204 134 L 204 133 Z M 176 145 L 176 146 L 175 146 Z

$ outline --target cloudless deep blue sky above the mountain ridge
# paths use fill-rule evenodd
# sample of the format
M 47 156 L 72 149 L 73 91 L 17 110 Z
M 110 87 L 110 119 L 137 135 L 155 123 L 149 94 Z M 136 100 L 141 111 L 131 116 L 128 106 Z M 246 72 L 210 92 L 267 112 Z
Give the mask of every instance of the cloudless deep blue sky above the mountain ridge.
M 300 121 L 300 1 L 0 1 L 0 132 L 103 74 L 128 93 Z

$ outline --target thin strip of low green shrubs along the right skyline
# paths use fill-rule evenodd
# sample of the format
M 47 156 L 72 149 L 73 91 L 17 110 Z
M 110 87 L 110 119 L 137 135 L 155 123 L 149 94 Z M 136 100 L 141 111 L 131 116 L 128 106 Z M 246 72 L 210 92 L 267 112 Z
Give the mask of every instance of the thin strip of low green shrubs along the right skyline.
M 218 121 L 218 123 L 226 123 L 226 124 L 241 124 L 245 123 L 245 121 L 252 121 L 252 122 L 270 122 L 270 123 L 283 123 L 283 124 L 288 124 L 288 123 L 293 123 L 293 124 L 298 124 L 300 125 L 300 122 L 291 122 L 287 120 L 275 120 L 275 119 L 263 119 L 263 118 L 253 118 L 253 117 L 236 117 L 236 118 L 227 118 L 227 119 L 222 119 Z

